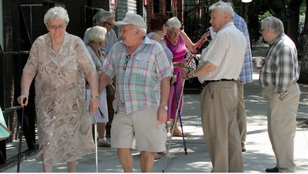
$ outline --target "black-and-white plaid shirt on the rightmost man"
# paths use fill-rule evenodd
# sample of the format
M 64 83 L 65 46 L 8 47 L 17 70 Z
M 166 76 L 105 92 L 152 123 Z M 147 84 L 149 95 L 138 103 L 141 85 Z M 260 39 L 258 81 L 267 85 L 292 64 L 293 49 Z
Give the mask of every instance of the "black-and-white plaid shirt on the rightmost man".
M 265 64 L 260 71 L 260 86 L 275 85 L 274 92 L 284 95 L 291 81 L 299 78 L 295 43 L 281 33 L 268 47 Z

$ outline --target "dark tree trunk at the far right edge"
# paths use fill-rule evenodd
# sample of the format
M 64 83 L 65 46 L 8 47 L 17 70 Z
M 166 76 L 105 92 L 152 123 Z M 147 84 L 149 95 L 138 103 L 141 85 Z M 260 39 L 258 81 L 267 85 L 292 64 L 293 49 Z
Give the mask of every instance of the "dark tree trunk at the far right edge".
M 306 1 L 306 9 L 308 2 Z M 304 33 L 302 38 L 302 60 L 298 83 L 308 84 L 308 11 L 306 10 L 306 18 L 304 19 Z

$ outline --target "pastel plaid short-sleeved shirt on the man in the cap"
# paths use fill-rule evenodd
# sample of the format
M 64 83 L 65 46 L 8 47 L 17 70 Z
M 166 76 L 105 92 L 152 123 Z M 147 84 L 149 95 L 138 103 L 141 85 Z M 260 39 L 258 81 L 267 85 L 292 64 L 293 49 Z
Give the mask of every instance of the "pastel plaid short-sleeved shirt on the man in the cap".
M 128 47 L 118 42 L 101 67 L 108 76 L 116 76 L 114 108 L 119 106 L 128 114 L 147 107 L 158 108 L 160 81 L 172 76 L 165 51 L 158 42 L 145 37 L 123 70 L 127 55 Z

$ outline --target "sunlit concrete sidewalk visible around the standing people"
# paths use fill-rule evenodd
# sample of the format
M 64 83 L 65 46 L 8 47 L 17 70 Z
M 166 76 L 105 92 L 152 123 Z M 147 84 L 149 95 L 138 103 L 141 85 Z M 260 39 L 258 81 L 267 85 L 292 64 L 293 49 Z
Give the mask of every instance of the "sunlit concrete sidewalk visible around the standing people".
M 255 43 L 253 57 L 265 57 L 268 45 Z M 258 70 L 254 70 L 253 83 L 245 85 L 245 101 L 247 112 L 247 139 L 246 152 L 243 152 L 244 170 L 246 173 L 264 173 L 265 168 L 275 167 L 275 155 L 270 144 L 267 129 L 267 104 L 262 97 L 258 85 Z M 308 85 L 299 84 L 302 95 L 300 97 L 297 118 L 308 119 Z M 185 132 L 189 133 L 186 139 L 187 155 L 183 151 L 182 137 L 172 138 L 170 154 L 167 158 L 165 173 L 209 173 L 211 172 L 211 159 L 205 144 L 202 124 L 200 118 L 200 95 L 185 94 L 185 105 L 182 111 L 182 123 Z M 297 128 L 295 136 L 295 164 L 297 173 L 308 171 L 308 128 Z M 166 147 L 169 143 L 167 139 Z M 132 150 L 133 172 L 141 172 L 139 151 Z M 123 172 L 119 162 L 116 149 L 106 147 L 98 148 L 99 173 Z M 21 172 L 38 173 L 43 172 L 42 163 L 34 159 L 35 156 L 27 158 L 21 163 Z M 161 173 L 165 163 L 165 156 L 155 161 L 153 173 Z M 94 151 L 87 156 L 77 160 L 76 171 L 78 173 L 95 172 Z M 13 166 L 5 173 L 15 173 L 16 166 Z M 53 172 L 67 172 L 66 163 L 59 163 L 53 167 Z

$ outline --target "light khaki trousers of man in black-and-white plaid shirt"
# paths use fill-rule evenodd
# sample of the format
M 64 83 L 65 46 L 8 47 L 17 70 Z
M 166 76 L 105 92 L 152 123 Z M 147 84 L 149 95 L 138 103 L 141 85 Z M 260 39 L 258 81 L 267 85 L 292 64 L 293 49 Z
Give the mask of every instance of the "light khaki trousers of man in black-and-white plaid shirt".
M 279 172 L 295 172 L 294 138 L 300 90 L 296 82 L 290 83 L 287 94 L 277 97 L 275 86 L 262 88 L 268 102 L 268 135 L 276 156 Z

